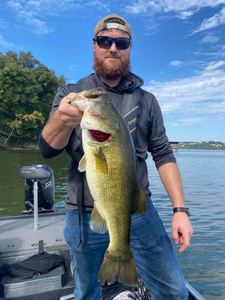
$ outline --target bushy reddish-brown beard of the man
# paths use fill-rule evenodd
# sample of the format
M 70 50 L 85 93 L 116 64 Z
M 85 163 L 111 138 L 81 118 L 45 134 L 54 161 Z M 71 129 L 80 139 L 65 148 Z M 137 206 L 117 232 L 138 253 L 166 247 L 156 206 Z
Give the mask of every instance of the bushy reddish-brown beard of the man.
M 116 57 L 113 55 L 110 55 L 110 57 Z M 131 66 L 130 66 L 130 58 L 128 57 L 126 60 L 121 61 L 120 65 L 115 66 L 112 68 L 108 68 L 104 65 L 104 60 L 101 60 L 97 57 L 97 55 L 94 52 L 94 59 L 93 59 L 93 69 L 98 73 L 98 75 L 101 75 L 102 77 L 106 79 L 118 79 L 122 76 L 127 75 L 130 73 Z

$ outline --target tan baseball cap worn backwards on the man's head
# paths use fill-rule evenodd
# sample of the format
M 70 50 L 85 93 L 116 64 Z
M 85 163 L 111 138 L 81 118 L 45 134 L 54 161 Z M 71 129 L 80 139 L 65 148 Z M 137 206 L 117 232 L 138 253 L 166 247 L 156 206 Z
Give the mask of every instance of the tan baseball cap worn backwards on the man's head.
M 101 19 L 95 27 L 94 36 L 97 36 L 99 31 L 110 28 L 123 30 L 129 34 L 130 38 L 132 38 L 132 30 L 129 23 L 127 23 L 124 18 L 116 14 L 112 14 Z

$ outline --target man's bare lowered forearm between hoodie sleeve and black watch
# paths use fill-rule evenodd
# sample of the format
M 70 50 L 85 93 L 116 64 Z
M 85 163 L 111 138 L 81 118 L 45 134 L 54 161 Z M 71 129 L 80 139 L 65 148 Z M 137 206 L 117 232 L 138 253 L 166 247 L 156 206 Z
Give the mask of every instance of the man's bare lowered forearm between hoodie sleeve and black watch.
M 173 207 L 185 207 L 182 181 L 177 164 L 166 163 L 159 167 L 158 172 Z

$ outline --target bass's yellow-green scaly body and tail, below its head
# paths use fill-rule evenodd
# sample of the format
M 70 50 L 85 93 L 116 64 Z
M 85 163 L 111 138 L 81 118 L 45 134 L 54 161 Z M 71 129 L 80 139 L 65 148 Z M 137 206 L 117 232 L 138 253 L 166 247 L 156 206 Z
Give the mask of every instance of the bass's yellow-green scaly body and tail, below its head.
M 138 200 L 136 162 L 132 153 L 121 151 L 121 147 L 111 147 L 103 152 L 107 167 L 97 167 L 95 155 L 89 162 L 86 158 L 87 180 L 95 210 L 105 222 L 110 237 L 99 281 L 112 284 L 118 280 L 135 285 L 137 273 L 130 248 L 130 226 Z

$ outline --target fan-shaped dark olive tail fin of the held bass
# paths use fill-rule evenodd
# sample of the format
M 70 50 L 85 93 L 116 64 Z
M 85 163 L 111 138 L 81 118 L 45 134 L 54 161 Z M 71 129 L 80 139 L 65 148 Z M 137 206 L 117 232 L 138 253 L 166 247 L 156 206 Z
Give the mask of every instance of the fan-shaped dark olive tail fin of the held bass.
M 137 271 L 130 250 L 130 255 L 126 259 L 121 259 L 110 254 L 108 249 L 98 274 L 98 280 L 101 285 L 113 284 L 115 281 L 126 285 L 136 285 Z

